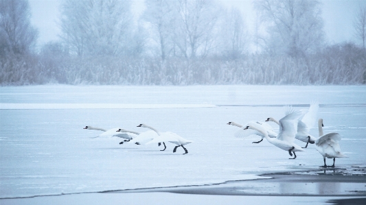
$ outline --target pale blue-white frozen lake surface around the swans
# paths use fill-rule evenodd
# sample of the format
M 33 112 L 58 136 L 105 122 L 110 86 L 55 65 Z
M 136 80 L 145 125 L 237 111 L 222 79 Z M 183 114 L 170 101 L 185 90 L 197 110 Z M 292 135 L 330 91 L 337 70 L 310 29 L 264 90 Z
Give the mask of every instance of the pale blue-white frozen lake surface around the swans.
M 319 169 L 309 145 L 288 152 L 260 138 L 235 138 L 229 121 L 280 119 L 285 105 L 321 105 L 324 131 L 341 134 L 349 158 L 336 167 L 366 165 L 366 86 L 19 86 L 0 88 L 0 198 L 213 184 L 258 174 Z M 138 132 L 140 123 L 194 141 L 172 153 L 157 145 L 119 145 L 90 138 L 99 128 Z M 271 123 L 275 130 L 277 126 Z M 317 128 L 312 135 L 318 136 Z M 300 146 L 305 143 L 295 141 Z M 328 164 L 332 160 L 327 160 Z

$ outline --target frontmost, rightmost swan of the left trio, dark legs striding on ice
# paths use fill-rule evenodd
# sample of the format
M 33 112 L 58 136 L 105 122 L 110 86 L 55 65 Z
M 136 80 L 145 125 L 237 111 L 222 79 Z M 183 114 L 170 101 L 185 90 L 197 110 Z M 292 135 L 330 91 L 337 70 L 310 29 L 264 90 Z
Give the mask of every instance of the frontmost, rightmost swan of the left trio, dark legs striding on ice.
M 151 144 L 151 143 L 161 143 L 162 142 L 162 143 L 164 143 L 164 146 L 165 146 L 165 142 L 170 142 L 170 143 L 176 144 L 176 147 L 174 147 L 173 152 L 176 152 L 176 148 L 182 147 L 185 151 L 184 154 L 187 154 L 188 151 L 187 151 L 187 149 L 185 149 L 185 147 L 183 145 L 192 143 L 192 141 L 188 141 L 187 139 L 179 136 L 178 134 L 175 134 L 174 132 L 160 133 L 155 128 L 152 128 L 149 125 L 145 125 L 145 124 L 139 124 L 137 127 L 149 128 L 150 130 L 154 130 L 159 135 L 156 138 L 154 138 L 152 141 L 146 143 L 146 145 Z

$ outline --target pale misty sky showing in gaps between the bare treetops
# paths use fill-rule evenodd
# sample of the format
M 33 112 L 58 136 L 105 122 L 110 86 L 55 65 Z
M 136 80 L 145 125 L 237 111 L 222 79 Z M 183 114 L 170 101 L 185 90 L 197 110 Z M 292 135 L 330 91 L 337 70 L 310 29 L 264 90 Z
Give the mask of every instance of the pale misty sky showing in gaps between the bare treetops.
M 62 0 L 30 0 L 32 24 L 39 30 L 38 44 L 58 40 L 58 6 Z M 253 28 L 254 12 L 250 0 L 225 1 L 225 5 L 234 5 L 243 11 L 248 29 Z M 135 15 L 144 10 L 144 0 L 133 0 Z M 323 3 L 324 31 L 329 43 L 355 41 L 353 21 L 360 6 L 366 6 L 364 0 L 321 0 Z

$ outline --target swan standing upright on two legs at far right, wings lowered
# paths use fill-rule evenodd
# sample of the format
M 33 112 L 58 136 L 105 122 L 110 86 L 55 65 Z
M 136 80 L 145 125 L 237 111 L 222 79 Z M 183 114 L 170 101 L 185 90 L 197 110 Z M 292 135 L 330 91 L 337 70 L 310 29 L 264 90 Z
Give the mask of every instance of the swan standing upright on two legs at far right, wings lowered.
M 341 147 L 339 141 L 341 141 L 341 135 L 335 132 L 323 134 L 323 119 L 318 121 L 319 138 L 315 141 L 315 148 L 323 156 L 324 165 L 321 167 L 334 167 L 336 158 L 347 157 L 341 153 Z M 327 166 L 325 164 L 326 158 L 333 158 L 333 165 Z

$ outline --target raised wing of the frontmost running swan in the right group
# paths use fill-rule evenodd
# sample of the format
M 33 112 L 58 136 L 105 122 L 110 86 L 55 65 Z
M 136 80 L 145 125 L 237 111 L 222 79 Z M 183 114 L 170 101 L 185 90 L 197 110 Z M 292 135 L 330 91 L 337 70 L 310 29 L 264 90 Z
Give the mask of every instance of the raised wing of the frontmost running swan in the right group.
M 288 114 L 286 114 L 285 117 L 279 120 L 279 133 L 277 139 L 293 143 L 293 141 L 295 141 L 299 117 L 301 117 L 304 113 L 294 110 L 291 110 L 287 113 Z

